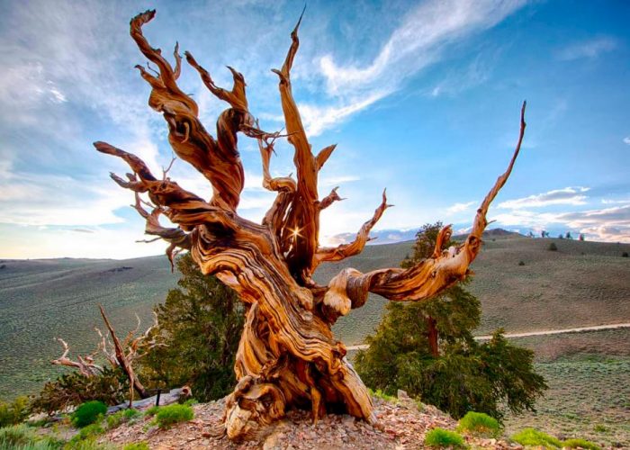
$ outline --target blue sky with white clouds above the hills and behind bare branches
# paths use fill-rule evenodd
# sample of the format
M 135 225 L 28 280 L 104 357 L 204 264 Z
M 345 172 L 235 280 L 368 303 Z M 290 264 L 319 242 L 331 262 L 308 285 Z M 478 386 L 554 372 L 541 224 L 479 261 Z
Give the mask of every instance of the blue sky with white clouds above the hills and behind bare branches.
M 136 257 L 144 224 L 113 184 L 105 140 L 159 173 L 171 150 L 133 68 L 145 59 L 130 17 L 156 8 L 154 47 L 180 48 L 229 85 L 247 80 L 250 111 L 282 128 L 277 77 L 302 11 L 294 1 L 0 2 L 0 257 Z M 322 214 L 321 241 L 358 229 L 387 187 L 395 208 L 376 230 L 428 221 L 470 226 L 507 165 L 527 99 L 527 133 L 495 226 L 571 230 L 630 242 L 630 3 L 521 0 L 310 1 L 293 92 L 313 148 L 338 143 L 320 193 L 347 197 Z M 225 107 L 184 63 L 180 85 L 210 130 Z M 239 213 L 259 220 L 273 200 L 261 186 L 256 142 L 239 139 L 246 189 Z M 294 172 L 276 147 L 273 175 Z M 170 173 L 202 196 L 211 187 L 179 160 Z M 395 236 L 396 233 L 381 233 Z

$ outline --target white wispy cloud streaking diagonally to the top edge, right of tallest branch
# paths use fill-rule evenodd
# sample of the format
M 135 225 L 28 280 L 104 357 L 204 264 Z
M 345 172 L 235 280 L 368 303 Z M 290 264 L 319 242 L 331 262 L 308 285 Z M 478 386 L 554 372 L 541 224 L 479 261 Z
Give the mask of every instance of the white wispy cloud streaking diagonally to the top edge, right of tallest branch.
M 448 44 L 491 28 L 524 4 L 525 0 L 428 0 L 403 17 L 371 61 L 342 66 L 330 53 L 321 56 L 320 73 L 337 103 L 311 107 L 313 113 L 307 107 L 309 132 L 317 135 L 395 93 L 406 78 L 437 62 Z

